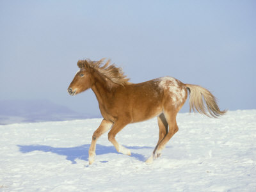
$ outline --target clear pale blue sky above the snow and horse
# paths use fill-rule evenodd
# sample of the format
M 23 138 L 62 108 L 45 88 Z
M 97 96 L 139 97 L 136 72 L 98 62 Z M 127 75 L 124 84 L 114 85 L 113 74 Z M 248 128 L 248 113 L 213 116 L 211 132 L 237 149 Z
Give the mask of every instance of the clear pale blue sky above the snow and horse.
M 132 83 L 172 76 L 221 109 L 256 109 L 256 1 L 1 0 L 0 26 L 0 100 L 99 116 L 92 90 L 67 88 L 78 60 L 109 58 Z

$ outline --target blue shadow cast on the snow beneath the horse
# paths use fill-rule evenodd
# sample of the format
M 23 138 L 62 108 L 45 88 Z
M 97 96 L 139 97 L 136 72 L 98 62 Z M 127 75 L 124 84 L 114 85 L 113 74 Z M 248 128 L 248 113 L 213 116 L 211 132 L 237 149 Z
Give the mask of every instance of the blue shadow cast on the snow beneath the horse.
M 42 151 L 42 152 L 52 152 L 54 154 L 58 154 L 60 156 L 66 156 L 68 161 L 71 161 L 72 164 L 76 164 L 76 159 L 82 159 L 84 161 L 88 161 L 88 150 L 90 145 L 80 145 L 77 147 L 51 147 L 46 145 L 17 145 L 19 147 L 20 152 L 26 154 L 33 151 Z M 143 148 L 152 148 L 152 147 L 127 147 L 130 149 L 143 149 Z M 104 155 L 104 154 L 120 154 L 116 151 L 113 146 L 104 146 L 97 144 L 96 146 L 96 154 Z M 131 157 L 135 157 L 139 161 L 145 161 L 145 156 L 141 154 L 131 154 Z M 107 161 L 102 161 L 101 163 L 106 163 Z

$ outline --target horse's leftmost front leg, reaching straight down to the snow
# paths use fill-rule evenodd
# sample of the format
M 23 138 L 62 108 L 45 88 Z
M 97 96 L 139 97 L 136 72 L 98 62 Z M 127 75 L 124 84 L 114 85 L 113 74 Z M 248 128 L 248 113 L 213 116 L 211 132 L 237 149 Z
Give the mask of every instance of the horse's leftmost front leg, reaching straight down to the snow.
M 112 122 L 109 122 L 109 121 L 103 119 L 99 128 L 96 129 L 96 131 L 93 133 L 92 143 L 91 143 L 91 146 L 89 148 L 89 164 L 92 164 L 94 162 L 95 148 L 96 148 L 96 142 L 97 142 L 98 138 L 102 134 L 104 134 L 104 132 L 108 131 L 111 128 L 112 125 L 113 125 Z

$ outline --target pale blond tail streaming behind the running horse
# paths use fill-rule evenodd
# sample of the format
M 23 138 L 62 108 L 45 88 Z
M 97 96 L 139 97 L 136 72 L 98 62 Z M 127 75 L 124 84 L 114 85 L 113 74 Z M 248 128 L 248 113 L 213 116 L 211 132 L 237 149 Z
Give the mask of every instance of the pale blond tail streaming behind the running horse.
M 202 88 L 201 86 L 195 84 L 185 84 L 189 92 L 189 111 L 198 111 L 201 114 L 207 115 L 209 117 L 217 118 L 220 115 L 224 115 L 227 110 L 220 111 L 216 98 L 212 95 L 209 90 Z M 204 97 L 204 100 L 203 100 Z M 205 101 L 205 104 L 204 104 Z M 207 109 L 205 108 L 207 107 Z M 209 111 L 210 115 L 207 113 Z

